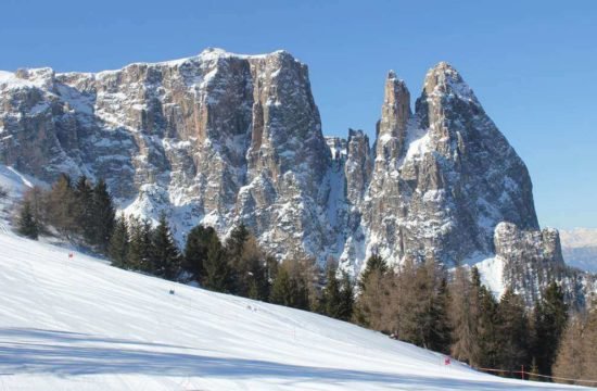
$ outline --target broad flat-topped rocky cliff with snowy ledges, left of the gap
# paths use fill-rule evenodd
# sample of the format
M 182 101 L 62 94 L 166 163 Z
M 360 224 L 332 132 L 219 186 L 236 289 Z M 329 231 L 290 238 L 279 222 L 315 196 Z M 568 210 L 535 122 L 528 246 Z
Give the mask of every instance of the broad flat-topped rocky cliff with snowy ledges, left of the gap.
M 45 180 L 105 177 L 131 213 L 165 210 L 181 238 L 241 219 L 270 251 L 327 244 L 330 152 L 307 67 L 289 53 L 49 68 L 0 79 L 2 163 Z M 307 247 L 308 245 L 308 247 Z

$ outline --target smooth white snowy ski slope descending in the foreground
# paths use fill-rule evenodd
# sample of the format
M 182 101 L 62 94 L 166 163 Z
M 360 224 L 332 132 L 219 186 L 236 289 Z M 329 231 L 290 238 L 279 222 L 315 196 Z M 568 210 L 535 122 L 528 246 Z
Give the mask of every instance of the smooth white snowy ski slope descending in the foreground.
M 5 390 L 518 390 L 351 324 L 0 234 Z M 175 294 L 169 290 L 174 289 Z M 561 386 L 552 386 L 560 388 Z

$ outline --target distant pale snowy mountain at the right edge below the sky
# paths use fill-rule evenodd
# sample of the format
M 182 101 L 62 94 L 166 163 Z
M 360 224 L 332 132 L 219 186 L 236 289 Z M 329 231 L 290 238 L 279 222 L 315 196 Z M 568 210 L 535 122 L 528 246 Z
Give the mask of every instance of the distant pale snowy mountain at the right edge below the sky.
M 560 230 L 562 254 L 567 264 L 597 273 L 597 229 Z

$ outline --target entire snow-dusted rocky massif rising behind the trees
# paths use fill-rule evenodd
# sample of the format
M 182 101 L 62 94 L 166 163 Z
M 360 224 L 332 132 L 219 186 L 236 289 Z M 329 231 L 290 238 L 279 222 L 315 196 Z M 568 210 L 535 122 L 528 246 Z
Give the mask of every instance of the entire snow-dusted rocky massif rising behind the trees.
M 354 275 L 372 253 L 493 258 L 529 302 L 554 276 L 582 301 L 594 278 L 539 231 L 524 163 L 460 74 L 431 68 L 414 111 L 394 72 L 383 97 L 371 144 L 361 130 L 323 137 L 307 66 L 285 51 L 0 72 L 0 163 L 47 182 L 105 178 L 125 212 L 164 211 L 180 241 L 243 222 L 280 260 L 334 257 Z

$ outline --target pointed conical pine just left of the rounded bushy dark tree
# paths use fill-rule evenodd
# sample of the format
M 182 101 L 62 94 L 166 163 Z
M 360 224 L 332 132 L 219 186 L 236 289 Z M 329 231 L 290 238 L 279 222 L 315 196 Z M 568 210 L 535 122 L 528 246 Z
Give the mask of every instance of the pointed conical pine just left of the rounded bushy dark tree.
M 162 213 L 152 237 L 151 264 L 153 273 L 165 279 L 174 280 L 180 268 L 180 253 L 174 242 L 166 215 Z

